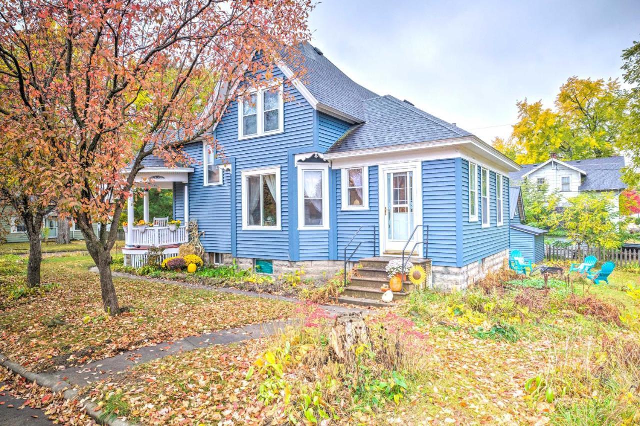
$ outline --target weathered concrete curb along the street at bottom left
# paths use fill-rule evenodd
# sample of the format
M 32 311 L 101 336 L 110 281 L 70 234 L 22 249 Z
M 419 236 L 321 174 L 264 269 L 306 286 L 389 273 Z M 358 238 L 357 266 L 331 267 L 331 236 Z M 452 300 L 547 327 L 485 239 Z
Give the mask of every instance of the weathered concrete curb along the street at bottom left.
M 64 380 L 58 379 L 54 375 L 47 373 L 34 373 L 32 371 L 27 370 L 21 365 L 14 363 L 13 361 L 9 361 L 6 356 L 0 354 L 0 365 L 8 368 L 15 374 L 19 374 L 30 382 L 35 382 L 40 386 L 44 386 L 45 388 L 49 388 L 52 392 L 62 392 L 63 398 L 66 400 L 75 399 L 78 396 L 77 389 L 72 388 L 72 385 Z M 120 420 L 118 418 L 108 418 L 102 419 L 100 418 L 101 414 L 98 411 L 98 406 L 93 404 L 91 401 L 86 401 L 81 404 L 81 407 L 86 411 L 87 414 L 93 420 L 101 425 L 108 426 L 134 426 L 136 423 L 129 423 L 125 420 Z

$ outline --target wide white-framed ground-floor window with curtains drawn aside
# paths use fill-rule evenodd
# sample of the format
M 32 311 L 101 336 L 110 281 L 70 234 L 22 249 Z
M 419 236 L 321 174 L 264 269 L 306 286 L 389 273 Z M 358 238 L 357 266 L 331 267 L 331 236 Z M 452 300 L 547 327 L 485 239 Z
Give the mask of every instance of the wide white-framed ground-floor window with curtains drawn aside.
M 242 172 L 243 229 L 280 229 L 280 167 Z

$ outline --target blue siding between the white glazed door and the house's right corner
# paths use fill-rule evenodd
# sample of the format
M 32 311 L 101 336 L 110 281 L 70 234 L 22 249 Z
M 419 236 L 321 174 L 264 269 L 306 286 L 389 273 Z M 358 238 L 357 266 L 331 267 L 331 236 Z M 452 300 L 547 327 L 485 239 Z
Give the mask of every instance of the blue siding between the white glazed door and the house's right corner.
M 422 162 L 422 216 L 433 264 L 456 266 L 456 159 Z

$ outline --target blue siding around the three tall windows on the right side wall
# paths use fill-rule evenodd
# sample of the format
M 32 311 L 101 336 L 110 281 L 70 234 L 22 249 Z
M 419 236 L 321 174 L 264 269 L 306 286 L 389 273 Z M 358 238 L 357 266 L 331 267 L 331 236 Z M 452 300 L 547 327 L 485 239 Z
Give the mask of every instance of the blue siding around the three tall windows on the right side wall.
M 489 224 L 488 228 L 482 228 L 482 201 L 481 201 L 481 168 L 477 168 L 478 191 L 478 220 L 469 222 L 469 169 L 468 161 L 462 160 L 462 265 L 481 260 L 486 256 L 499 253 L 509 247 L 509 221 L 504 220 L 504 225 L 497 226 L 496 201 L 495 201 L 495 172 L 489 170 Z M 509 211 L 509 180 L 504 177 L 502 184 L 503 214 Z

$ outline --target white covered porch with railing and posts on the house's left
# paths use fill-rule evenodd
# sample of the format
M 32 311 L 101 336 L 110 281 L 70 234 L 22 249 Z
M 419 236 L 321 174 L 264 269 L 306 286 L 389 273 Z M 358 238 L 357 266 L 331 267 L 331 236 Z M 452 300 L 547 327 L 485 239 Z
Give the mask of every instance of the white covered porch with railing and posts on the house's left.
M 127 200 L 127 226 L 125 231 L 125 246 L 122 248 L 124 264 L 141 267 L 146 263 L 150 247 L 163 248 L 163 258 L 175 256 L 180 244 L 189 241 L 189 173 L 193 168 L 145 167 L 136 176 L 134 190 Z M 149 216 L 149 190 L 173 190 L 173 183 L 184 184 L 184 216 L 174 217 L 180 225 L 169 224 L 168 217 Z M 134 213 L 135 192 L 142 191 L 143 217 L 145 224 L 135 225 Z

